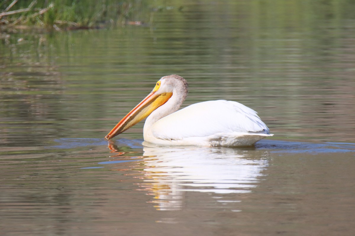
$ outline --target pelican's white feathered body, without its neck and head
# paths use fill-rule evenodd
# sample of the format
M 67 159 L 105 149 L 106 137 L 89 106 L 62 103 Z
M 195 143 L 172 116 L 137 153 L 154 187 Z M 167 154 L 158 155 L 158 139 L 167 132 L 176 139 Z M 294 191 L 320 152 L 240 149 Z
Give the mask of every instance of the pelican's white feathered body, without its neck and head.
M 195 103 L 154 123 L 149 117 L 143 136 L 155 144 L 249 146 L 273 136 L 256 111 L 233 101 Z

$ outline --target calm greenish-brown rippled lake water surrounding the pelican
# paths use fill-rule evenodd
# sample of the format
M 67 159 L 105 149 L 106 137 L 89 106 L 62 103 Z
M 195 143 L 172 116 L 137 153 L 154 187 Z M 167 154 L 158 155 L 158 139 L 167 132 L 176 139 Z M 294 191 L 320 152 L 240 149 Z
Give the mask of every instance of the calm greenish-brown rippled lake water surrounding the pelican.
M 1 34 L 1 235 L 355 235 L 355 4 L 147 1 L 126 25 Z M 164 75 L 249 148 L 103 138 Z

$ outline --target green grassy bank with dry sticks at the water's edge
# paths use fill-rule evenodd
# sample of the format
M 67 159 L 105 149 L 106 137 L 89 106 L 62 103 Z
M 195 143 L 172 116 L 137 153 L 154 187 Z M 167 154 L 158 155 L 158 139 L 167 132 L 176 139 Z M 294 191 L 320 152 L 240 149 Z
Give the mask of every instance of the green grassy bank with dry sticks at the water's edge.
M 0 32 L 18 30 L 98 29 L 135 24 L 129 16 L 141 1 L 4 0 L 0 2 Z

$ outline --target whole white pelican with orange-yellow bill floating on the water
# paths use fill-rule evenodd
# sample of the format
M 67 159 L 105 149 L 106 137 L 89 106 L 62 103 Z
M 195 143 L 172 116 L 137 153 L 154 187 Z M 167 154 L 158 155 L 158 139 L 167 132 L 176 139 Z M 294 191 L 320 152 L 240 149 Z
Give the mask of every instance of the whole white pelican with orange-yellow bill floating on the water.
M 115 137 L 147 116 L 144 141 L 159 145 L 249 146 L 273 136 L 256 111 L 237 102 L 200 102 L 178 111 L 186 96 L 184 78 L 162 77 L 105 138 Z

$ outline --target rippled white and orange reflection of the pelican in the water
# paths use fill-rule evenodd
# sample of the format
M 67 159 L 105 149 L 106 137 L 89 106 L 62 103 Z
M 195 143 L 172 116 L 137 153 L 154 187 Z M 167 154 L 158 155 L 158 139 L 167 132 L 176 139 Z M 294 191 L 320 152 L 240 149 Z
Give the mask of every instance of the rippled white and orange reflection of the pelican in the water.
M 125 157 L 115 141 L 109 142 L 113 159 L 130 160 L 140 190 L 154 198 L 158 210 L 179 210 L 188 205 L 186 192 L 200 192 L 207 202 L 230 202 L 224 208 L 238 207 L 245 194 L 260 185 L 262 173 L 268 166 L 268 151 L 252 148 L 170 146 L 157 148 L 144 146 L 143 155 L 133 164 L 132 155 Z M 126 167 L 124 167 L 126 169 Z M 127 169 L 126 169 L 127 170 Z M 231 194 L 231 195 L 227 195 Z M 190 195 L 191 196 L 191 195 Z M 211 198 L 211 199 L 210 199 Z M 225 201 L 229 200 L 229 201 Z M 233 202 L 232 202 L 233 201 Z M 204 205 L 204 204 L 202 204 Z M 196 206 L 195 206 L 196 207 Z

